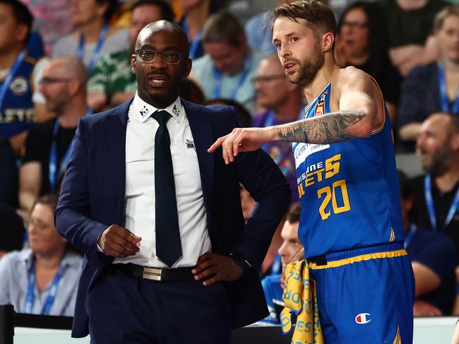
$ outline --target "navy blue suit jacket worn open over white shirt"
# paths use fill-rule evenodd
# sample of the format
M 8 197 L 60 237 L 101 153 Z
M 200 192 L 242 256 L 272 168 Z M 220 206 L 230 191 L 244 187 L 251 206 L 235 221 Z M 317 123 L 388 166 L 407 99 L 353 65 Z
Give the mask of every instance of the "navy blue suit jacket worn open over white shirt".
M 254 266 L 239 280 L 224 283 L 232 326 L 245 326 L 268 315 L 257 269 L 290 202 L 289 184 L 263 150 L 241 153 L 230 165 L 225 165 L 221 148 L 207 152 L 218 137 L 237 126 L 234 109 L 181 102 L 198 155 L 212 251 L 220 254 L 240 251 Z M 125 142 L 130 104 L 131 101 L 81 119 L 55 212 L 59 233 L 85 251 L 73 337 L 88 335 L 85 297 L 112 261 L 112 257 L 97 251 L 97 239 L 109 225 L 125 223 Z M 258 202 L 247 225 L 242 215 L 239 182 Z

